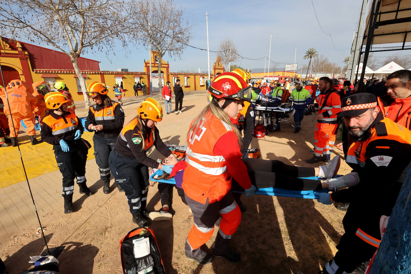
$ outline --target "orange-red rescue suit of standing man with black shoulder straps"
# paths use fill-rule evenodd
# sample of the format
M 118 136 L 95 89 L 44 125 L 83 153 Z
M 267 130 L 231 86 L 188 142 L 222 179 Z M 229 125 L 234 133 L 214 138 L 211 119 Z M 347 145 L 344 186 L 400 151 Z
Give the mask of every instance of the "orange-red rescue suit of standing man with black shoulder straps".
M 324 103 L 327 94 L 327 101 Z M 337 114 L 341 111 L 341 99 L 335 89 L 320 92 L 316 98 L 318 102 L 318 114 L 323 114 L 324 118 L 317 120 L 314 131 L 314 155 L 320 157 L 321 154 L 331 154 L 335 143 L 335 129 L 337 129 Z

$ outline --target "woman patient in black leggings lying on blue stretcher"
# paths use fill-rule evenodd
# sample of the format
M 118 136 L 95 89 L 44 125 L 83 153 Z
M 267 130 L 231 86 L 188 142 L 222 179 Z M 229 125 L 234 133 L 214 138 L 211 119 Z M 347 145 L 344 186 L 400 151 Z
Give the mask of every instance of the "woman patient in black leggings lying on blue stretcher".
M 334 178 L 339 170 L 341 159 L 339 156 L 334 157 L 328 164 L 318 168 L 306 168 L 300 166 L 286 165 L 278 160 L 263 160 L 255 158 L 243 158 L 242 161 L 247 167 L 247 173 L 251 183 L 257 189 L 267 187 L 277 187 L 282 189 L 303 191 L 331 189 L 337 190 L 345 187 L 351 187 L 358 184 L 358 173 L 349 173 L 347 175 Z M 157 179 L 175 178 L 177 187 L 181 188 L 182 175 L 187 164 L 184 160 L 178 161 L 175 157 L 168 157 L 162 161 L 163 165 L 171 165 L 170 174 L 163 174 Z M 300 177 L 319 176 L 324 179 L 310 180 Z M 238 184 L 232 184 L 231 190 L 242 190 Z

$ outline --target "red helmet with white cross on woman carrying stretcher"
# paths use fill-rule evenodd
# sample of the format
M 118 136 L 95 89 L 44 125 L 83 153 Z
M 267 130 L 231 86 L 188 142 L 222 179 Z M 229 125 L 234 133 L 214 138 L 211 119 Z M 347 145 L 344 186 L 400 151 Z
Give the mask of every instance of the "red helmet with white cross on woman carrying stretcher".
M 252 99 L 252 87 L 240 75 L 233 72 L 219 74 L 208 90 L 216 98 L 237 99 L 241 101 Z

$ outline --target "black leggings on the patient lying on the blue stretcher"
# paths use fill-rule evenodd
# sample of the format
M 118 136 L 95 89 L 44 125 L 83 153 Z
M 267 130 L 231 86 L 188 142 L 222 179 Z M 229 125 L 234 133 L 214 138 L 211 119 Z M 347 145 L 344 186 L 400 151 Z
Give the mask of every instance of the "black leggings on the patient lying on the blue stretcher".
M 282 161 L 243 158 L 251 183 L 257 189 L 278 187 L 289 190 L 322 189 L 320 180 L 300 179 L 299 177 L 315 176 L 314 168 L 289 166 Z M 231 190 L 241 191 L 242 188 L 234 180 Z M 239 188 L 239 189 L 238 189 Z

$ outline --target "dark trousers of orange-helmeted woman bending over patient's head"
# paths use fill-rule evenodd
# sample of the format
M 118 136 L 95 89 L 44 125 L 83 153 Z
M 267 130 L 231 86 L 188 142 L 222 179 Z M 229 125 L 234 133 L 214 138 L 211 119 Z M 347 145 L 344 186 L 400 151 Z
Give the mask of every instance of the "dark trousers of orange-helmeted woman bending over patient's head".
M 124 189 L 131 214 L 145 209 L 150 185 L 148 167 L 136 158 L 120 156 L 115 150 L 110 152 L 109 166 L 115 182 Z

